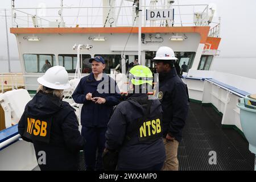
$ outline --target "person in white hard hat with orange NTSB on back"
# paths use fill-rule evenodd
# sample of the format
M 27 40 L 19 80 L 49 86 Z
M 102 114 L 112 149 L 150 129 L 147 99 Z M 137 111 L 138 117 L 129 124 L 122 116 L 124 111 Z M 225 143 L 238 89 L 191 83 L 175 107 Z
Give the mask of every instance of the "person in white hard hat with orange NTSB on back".
M 19 134 L 34 144 L 41 170 L 77 170 L 85 139 L 73 107 L 62 101 L 63 90 L 70 87 L 68 73 L 64 67 L 51 67 L 38 82 L 20 118 Z

